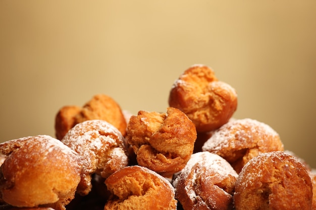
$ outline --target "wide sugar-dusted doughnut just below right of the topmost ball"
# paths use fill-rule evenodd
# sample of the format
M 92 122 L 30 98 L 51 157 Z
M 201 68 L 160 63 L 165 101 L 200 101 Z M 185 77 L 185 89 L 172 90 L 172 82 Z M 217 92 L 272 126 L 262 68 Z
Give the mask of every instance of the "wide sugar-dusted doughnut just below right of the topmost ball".
M 279 134 L 269 125 L 245 118 L 229 121 L 212 131 L 202 151 L 223 157 L 239 173 L 258 154 L 284 151 L 284 147 Z

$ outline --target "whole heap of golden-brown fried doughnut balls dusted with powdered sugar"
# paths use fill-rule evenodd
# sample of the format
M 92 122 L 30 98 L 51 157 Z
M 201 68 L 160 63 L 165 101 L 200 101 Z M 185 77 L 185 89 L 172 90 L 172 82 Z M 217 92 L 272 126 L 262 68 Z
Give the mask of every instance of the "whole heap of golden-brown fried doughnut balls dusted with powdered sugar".
M 57 111 L 56 136 L 0 144 L 0 209 L 316 209 L 316 172 L 279 134 L 235 119 L 237 93 L 195 64 L 166 112 L 110 96 Z

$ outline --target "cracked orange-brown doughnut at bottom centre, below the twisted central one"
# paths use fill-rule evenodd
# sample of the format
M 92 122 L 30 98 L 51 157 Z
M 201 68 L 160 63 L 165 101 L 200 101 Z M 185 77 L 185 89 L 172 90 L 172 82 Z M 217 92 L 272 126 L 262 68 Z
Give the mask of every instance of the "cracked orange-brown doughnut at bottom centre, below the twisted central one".
M 114 195 L 104 210 L 175 210 L 173 186 L 161 175 L 141 166 L 125 167 L 105 181 Z

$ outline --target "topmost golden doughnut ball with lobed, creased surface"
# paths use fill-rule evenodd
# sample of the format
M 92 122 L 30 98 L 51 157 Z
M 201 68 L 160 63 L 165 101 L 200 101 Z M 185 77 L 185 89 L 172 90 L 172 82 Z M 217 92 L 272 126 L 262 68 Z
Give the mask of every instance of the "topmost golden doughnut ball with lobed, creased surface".
M 237 109 L 237 93 L 218 81 L 206 65 L 189 67 L 173 84 L 169 106 L 183 111 L 197 132 L 215 130 L 228 122 Z

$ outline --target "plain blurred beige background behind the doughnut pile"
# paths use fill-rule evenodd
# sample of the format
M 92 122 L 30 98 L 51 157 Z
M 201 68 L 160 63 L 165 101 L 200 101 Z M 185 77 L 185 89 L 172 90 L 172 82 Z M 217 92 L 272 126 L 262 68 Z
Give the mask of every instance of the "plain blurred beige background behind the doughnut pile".
M 0 141 L 54 136 L 64 105 L 112 96 L 165 111 L 203 63 L 238 92 L 234 117 L 265 122 L 316 167 L 316 1 L 0 1 Z

